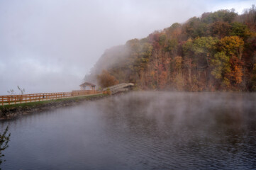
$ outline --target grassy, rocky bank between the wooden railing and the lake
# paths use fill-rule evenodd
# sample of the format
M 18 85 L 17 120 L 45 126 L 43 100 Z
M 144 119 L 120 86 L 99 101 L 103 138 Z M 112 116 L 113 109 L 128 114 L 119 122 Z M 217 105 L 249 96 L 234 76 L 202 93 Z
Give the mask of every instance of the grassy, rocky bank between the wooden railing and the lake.
M 40 113 L 55 108 L 75 106 L 79 103 L 82 103 L 83 101 L 95 101 L 101 98 L 106 98 L 107 96 L 108 95 L 106 94 L 96 94 L 90 96 L 79 96 L 76 98 L 61 98 L 51 101 L 38 101 L 0 106 L 0 121 L 11 120 L 22 115 Z

